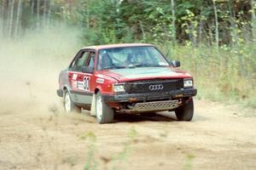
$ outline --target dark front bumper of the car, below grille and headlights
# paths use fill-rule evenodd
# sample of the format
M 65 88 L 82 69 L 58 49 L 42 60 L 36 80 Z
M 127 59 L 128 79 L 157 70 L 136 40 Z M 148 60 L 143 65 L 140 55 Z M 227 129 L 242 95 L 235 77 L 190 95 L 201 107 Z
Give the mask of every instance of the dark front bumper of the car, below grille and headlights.
M 147 102 L 157 100 L 181 99 L 195 96 L 195 88 L 183 88 L 172 90 L 170 92 L 147 93 L 147 94 L 103 94 L 102 97 L 106 103 L 125 103 L 125 102 Z

